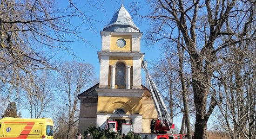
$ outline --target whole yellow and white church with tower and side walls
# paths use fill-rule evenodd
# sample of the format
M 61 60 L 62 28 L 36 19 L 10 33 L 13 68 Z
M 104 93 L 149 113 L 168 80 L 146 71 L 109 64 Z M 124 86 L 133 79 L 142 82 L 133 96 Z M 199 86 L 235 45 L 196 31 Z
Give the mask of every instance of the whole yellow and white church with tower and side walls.
M 132 124 L 135 133 L 151 133 L 157 112 L 149 90 L 141 85 L 141 36 L 122 4 L 101 31 L 100 82 L 78 96 L 79 132 L 117 121 L 119 126 Z

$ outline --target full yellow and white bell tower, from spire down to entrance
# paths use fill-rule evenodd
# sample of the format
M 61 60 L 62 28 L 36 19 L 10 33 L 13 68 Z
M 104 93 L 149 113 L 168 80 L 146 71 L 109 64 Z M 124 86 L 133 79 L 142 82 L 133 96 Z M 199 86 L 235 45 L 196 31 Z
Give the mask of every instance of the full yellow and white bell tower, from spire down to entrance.
M 142 132 L 141 36 L 123 4 L 101 31 L 97 126 L 107 120 L 133 121 L 134 129 Z

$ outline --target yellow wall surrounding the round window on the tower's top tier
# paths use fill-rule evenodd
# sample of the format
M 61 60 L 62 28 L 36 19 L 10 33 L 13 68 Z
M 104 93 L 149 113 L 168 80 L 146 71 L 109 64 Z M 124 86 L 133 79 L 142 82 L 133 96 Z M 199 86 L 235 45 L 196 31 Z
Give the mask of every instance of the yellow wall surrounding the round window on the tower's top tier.
M 122 48 L 116 45 L 116 41 L 118 39 L 124 39 L 126 41 L 126 45 Z M 132 36 L 131 35 L 111 35 L 110 39 L 110 51 L 132 51 Z

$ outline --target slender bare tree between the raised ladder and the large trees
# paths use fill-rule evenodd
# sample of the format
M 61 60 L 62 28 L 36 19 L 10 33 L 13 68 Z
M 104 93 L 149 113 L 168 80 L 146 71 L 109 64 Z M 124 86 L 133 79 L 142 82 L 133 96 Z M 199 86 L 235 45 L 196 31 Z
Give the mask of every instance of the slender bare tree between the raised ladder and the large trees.
M 158 61 L 152 63 L 153 79 L 159 88 L 164 101 L 168 104 L 168 109 L 170 111 L 170 117 L 173 118 L 177 113 L 179 108 L 179 92 L 177 91 L 177 72 L 175 71 L 174 65 L 172 63 L 175 58 L 174 55 L 169 55 L 169 51 L 164 51 L 164 55 L 160 57 Z

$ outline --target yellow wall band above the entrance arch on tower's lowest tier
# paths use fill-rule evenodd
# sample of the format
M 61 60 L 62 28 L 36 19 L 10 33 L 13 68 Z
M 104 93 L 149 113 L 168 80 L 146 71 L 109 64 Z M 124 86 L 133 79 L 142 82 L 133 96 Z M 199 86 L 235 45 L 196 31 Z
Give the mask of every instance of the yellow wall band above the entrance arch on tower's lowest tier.
M 98 96 L 98 114 L 113 114 L 117 108 L 122 108 L 126 114 L 142 114 L 141 97 Z

